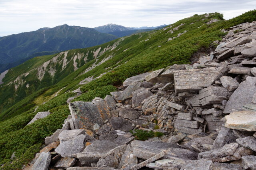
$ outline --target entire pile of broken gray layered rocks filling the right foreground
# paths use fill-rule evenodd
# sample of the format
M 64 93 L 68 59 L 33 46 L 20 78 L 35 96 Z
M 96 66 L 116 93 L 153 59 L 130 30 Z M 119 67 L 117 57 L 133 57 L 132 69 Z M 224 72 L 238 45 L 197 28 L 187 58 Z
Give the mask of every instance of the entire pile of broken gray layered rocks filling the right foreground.
M 218 42 L 215 42 L 218 43 Z M 256 169 L 256 22 L 232 27 L 208 56 L 69 103 L 63 128 L 26 169 Z M 130 130 L 160 132 L 146 141 Z

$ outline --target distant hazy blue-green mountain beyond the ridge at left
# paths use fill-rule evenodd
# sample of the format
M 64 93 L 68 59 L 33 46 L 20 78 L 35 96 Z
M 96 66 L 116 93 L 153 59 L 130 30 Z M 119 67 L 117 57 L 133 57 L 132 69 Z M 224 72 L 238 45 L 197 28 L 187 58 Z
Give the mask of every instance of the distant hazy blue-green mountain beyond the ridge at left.
M 35 56 L 106 43 L 117 37 L 92 28 L 60 25 L 0 38 L 0 72 Z

